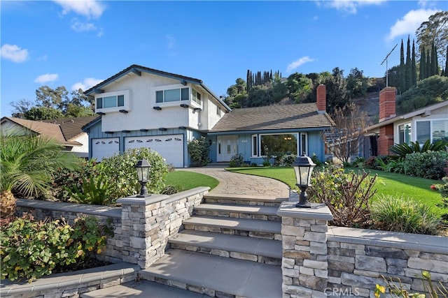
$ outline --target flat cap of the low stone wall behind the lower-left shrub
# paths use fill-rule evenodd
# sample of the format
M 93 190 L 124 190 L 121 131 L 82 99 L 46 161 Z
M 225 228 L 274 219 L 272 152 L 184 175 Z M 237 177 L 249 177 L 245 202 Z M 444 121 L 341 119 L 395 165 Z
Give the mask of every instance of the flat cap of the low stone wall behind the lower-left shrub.
M 18 207 L 27 207 L 43 210 L 82 213 L 98 216 L 121 218 L 121 207 L 109 207 L 92 204 L 74 204 L 67 202 L 50 202 L 41 200 L 17 200 Z

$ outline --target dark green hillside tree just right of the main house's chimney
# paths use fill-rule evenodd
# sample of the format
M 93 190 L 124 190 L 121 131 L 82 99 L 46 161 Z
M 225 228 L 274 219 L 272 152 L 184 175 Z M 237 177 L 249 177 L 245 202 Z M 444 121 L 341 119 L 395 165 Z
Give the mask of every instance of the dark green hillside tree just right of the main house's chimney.
M 332 114 L 337 108 L 344 108 L 351 100 L 346 98 L 346 80 L 344 70 L 335 67 L 332 76 L 325 80 L 327 96 L 327 112 Z

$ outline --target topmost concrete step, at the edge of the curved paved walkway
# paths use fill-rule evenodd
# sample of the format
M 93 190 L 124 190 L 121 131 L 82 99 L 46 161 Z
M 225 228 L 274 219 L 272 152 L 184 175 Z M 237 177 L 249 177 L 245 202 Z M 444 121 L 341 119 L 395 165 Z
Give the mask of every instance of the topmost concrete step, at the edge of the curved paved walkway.
M 281 202 L 285 200 L 288 200 L 288 198 L 267 198 L 256 197 L 253 195 L 238 195 L 237 197 L 230 197 L 229 195 L 211 195 L 210 193 L 204 195 L 204 202 L 219 204 L 244 204 L 279 207 Z

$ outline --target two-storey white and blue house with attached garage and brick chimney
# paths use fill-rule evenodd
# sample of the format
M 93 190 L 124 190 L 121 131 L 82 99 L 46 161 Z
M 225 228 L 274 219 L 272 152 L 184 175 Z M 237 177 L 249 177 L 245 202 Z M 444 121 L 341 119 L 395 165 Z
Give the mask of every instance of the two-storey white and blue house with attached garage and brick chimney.
M 323 161 L 321 132 L 334 123 L 321 89 L 317 104 L 231 110 L 202 80 L 132 65 L 85 91 L 102 115 L 83 128 L 89 157 L 101 161 L 126 149 L 149 147 L 174 167 L 189 167 L 188 142 L 206 137 L 214 163 L 228 162 L 235 154 L 262 163 L 265 145 L 269 152 L 304 151 Z

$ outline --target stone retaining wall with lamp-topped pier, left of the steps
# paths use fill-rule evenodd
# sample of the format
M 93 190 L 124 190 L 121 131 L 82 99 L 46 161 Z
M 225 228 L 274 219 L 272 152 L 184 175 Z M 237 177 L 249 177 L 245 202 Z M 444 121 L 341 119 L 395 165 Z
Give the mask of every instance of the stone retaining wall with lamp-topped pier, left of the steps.
M 83 214 L 102 222 L 111 220 L 114 237 L 107 239 L 106 250 L 98 258 L 112 263 L 138 264 L 145 269 L 162 257 L 168 237 L 179 232 L 182 221 L 191 216 L 193 207 L 208 192 L 208 187 L 198 187 L 175 195 L 121 198 L 117 202 L 122 207 L 18 200 L 17 210 L 19 215 L 28 212 L 37 220 L 62 216 L 73 223 Z

